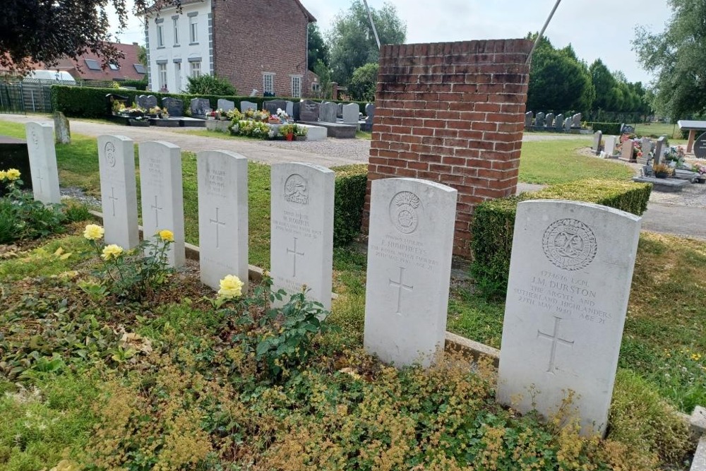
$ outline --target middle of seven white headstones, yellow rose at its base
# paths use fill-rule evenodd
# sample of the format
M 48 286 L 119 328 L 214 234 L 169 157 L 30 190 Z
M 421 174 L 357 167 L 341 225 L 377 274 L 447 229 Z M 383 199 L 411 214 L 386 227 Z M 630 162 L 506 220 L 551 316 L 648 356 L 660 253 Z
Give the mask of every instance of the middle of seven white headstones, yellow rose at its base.
M 225 275 L 248 288 L 248 159 L 225 150 L 196 156 L 201 282 L 219 289 Z

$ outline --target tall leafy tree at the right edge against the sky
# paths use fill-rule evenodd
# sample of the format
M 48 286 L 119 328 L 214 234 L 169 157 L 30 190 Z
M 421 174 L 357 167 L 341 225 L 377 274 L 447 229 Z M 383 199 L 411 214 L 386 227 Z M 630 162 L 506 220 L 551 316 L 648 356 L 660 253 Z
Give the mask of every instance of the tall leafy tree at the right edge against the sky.
M 706 2 L 669 0 L 673 16 L 660 33 L 635 28 L 633 47 L 652 71 L 654 108 L 672 120 L 706 112 Z

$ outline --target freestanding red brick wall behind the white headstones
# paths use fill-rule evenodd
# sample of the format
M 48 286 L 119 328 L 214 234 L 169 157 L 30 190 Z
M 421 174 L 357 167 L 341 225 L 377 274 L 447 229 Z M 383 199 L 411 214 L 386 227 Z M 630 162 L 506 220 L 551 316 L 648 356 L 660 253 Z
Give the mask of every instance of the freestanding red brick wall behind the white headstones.
M 454 254 L 469 256 L 474 207 L 515 193 L 532 49 L 528 40 L 383 46 L 368 169 L 458 191 Z

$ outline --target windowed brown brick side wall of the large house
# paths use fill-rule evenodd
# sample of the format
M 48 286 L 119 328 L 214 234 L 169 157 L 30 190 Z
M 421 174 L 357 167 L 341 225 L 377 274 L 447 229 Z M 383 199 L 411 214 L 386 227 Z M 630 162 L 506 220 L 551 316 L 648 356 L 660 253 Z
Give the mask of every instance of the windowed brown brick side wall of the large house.
M 213 1 L 215 73 L 239 95 L 263 93 L 263 73 L 275 73 L 275 95 L 292 95 L 292 75 L 307 82 L 306 27 L 309 18 L 296 0 Z

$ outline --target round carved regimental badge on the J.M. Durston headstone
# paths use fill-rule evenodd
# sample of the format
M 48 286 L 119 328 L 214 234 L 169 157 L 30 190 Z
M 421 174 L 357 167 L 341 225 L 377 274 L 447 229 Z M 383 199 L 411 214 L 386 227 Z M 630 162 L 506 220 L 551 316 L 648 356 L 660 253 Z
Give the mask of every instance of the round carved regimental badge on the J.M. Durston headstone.
M 542 238 L 544 255 L 562 270 L 581 270 L 596 257 L 598 244 L 590 227 L 575 219 L 552 222 Z

